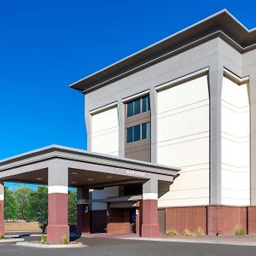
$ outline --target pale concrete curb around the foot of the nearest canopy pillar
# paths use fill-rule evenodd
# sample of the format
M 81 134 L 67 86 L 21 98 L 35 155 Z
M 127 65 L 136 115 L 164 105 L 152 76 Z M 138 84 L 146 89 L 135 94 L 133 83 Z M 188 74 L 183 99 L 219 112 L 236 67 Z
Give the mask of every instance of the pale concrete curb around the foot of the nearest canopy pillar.
M 72 248 L 83 248 L 83 247 L 88 247 L 87 245 L 84 244 L 41 244 L 41 243 L 35 243 L 31 241 L 20 241 L 16 243 L 16 246 L 20 247 L 35 247 L 35 248 L 41 248 L 41 249 L 72 249 Z

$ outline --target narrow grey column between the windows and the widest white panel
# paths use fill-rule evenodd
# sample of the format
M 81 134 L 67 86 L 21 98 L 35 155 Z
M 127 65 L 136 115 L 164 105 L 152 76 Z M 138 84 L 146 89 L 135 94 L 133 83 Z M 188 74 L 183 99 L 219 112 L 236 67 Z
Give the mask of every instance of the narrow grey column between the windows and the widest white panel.
M 151 122 L 151 163 L 157 163 L 157 92 L 149 90 Z

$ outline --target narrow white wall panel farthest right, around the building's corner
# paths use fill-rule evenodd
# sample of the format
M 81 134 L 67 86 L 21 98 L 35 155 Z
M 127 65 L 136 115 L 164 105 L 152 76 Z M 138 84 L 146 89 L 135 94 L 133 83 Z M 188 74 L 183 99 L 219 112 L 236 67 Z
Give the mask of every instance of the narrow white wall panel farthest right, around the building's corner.
M 250 204 L 250 106 L 247 84 L 224 77 L 221 96 L 222 203 Z

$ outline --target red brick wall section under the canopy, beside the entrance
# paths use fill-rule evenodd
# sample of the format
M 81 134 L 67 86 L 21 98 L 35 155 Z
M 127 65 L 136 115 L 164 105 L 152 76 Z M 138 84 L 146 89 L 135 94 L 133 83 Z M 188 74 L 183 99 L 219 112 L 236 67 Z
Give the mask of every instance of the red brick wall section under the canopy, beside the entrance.
M 129 209 L 108 209 L 108 234 L 130 233 Z

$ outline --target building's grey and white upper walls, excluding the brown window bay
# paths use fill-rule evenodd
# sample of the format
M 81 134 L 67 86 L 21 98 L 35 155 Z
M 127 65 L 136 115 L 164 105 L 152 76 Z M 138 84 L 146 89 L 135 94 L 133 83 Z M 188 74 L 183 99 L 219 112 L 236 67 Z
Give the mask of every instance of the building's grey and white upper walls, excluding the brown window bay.
M 245 30 L 234 23 L 232 33 L 236 26 Z M 159 207 L 256 204 L 256 49 L 236 43 L 235 36 L 218 28 L 215 37 L 165 51 L 85 91 L 88 149 L 120 157 L 124 99 L 149 92 L 151 161 L 182 169 Z M 90 114 L 113 102 L 116 108 Z

